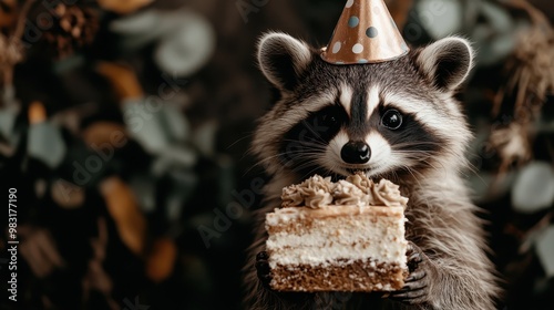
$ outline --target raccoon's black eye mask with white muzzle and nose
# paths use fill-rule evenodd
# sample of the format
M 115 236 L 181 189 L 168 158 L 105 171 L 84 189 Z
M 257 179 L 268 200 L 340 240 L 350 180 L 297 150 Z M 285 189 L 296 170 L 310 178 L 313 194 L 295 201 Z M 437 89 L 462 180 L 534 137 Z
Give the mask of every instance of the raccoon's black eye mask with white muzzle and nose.
M 360 127 L 342 105 L 331 104 L 286 132 L 278 158 L 281 166 L 302 176 L 347 176 L 356 170 L 373 176 L 416 167 L 440 144 L 416 115 L 394 106 L 377 106 Z

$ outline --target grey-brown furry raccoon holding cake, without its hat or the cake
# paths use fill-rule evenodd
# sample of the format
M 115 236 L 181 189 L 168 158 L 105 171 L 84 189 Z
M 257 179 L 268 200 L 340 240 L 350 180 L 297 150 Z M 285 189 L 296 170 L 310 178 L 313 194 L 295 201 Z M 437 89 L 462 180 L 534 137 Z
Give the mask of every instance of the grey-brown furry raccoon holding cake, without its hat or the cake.
M 472 68 L 471 44 L 451 37 L 393 61 L 353 65 L 327 63 L 320 52 L 285 33 L 266 33 L 258 43 L 259 68 L 278 99 L 259 120 L 252 146 L 270 180 L 255 214 L 246 308 L 329 306 L 332 293 L 268 287 L 265 215 L 280 206 L 285 186 L 314 174 L 340 179 L 361 170 L 399 184 L 409 197 L 410 273 L 402 290 L 352 294 L 348 307 L 495 309 L 499 277 L 462 178 L 472 133 L 455 94 Z

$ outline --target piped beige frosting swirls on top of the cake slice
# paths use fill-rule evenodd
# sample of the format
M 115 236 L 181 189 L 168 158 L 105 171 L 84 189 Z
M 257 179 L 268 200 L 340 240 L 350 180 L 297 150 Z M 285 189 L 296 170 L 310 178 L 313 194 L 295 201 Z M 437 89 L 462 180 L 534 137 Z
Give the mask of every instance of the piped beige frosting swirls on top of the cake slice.
M 408 203 L 398 185 L 384 178 L 373 183 L 361 172 L 337 183 L 331 182 L 330 177 L 315 175 L 300 184 L 283 188 L 281 200 L 284 208 L 320 208 L 329 205 L 393 207 L 406 206 Z

